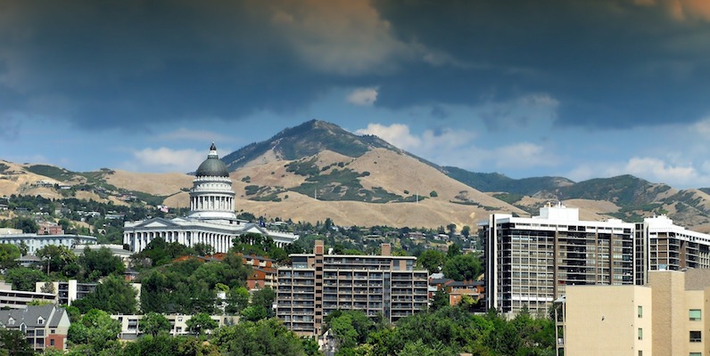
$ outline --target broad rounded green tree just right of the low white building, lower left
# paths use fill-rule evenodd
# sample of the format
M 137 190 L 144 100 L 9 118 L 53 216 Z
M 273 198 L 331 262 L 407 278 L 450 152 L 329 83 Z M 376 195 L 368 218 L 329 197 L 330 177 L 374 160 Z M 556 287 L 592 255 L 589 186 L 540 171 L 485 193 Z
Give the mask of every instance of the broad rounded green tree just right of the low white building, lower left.
M 82 312 L 100 309 L 111 314 L 135 314 L 136 289 L 120 276 L 111 275 L 96 286 L 93 293 L 74 301 Z

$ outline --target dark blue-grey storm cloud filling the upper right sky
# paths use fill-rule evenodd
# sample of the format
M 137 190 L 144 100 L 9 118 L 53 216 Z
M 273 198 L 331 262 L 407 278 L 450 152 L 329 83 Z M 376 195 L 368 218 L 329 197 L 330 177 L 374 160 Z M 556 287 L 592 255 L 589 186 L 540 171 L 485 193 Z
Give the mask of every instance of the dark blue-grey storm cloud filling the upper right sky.
M 707 19 L 640 3 L 376 1 L 400 39 L 416 38 L 463 63 L 409 70 L 417 75 L 381 85 L 379 103 L 475 105 L 549 93 L 560 103 L 561 125 L 698 120 L 709 106 Z

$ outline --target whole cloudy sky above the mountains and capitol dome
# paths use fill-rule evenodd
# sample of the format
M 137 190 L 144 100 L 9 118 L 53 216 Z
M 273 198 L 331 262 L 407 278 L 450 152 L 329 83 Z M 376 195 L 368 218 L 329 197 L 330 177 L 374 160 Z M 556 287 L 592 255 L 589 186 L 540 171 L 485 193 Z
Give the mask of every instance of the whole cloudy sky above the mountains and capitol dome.
M 0 159 L 191 172 L 313 118 L 472 172 L 710 187 L 710 2 L 0 0 Z

